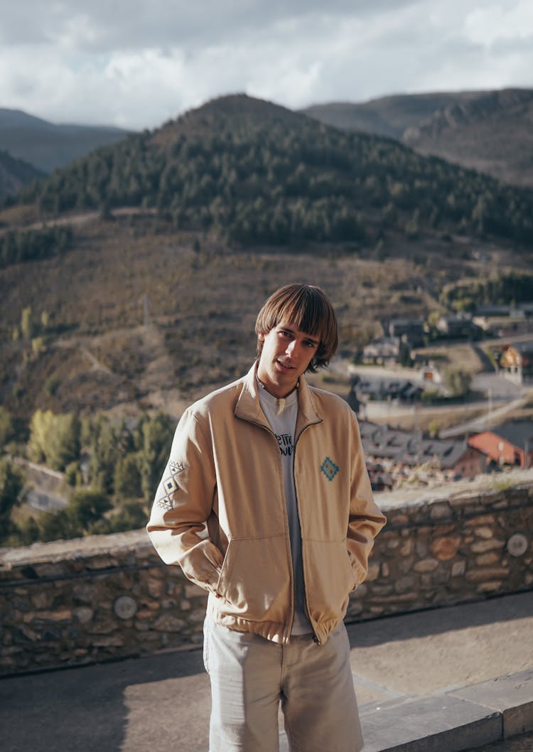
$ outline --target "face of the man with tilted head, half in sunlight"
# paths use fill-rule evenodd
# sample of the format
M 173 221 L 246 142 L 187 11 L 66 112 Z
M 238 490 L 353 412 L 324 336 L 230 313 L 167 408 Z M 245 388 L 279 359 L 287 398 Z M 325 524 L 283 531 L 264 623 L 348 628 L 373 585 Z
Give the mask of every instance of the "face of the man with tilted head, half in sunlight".
M 282 321 L 268 334 L 260 334 L 259 339 L 263 343 L 257 368 L 259 381 L 275 397 L 286 397 L 307 371 L 318 350 L 319 338 Z

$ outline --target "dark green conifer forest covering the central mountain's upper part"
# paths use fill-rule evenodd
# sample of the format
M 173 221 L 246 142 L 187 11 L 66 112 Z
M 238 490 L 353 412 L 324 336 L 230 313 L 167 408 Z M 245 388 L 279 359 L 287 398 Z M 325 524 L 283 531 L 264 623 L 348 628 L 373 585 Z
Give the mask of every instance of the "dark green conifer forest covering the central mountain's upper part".
M 130 205 L 242 244 L 375 241 L 388 229 L 533 241 L 533 191 L 231 96 L 97 150 L 20 193 L 42 217 Z

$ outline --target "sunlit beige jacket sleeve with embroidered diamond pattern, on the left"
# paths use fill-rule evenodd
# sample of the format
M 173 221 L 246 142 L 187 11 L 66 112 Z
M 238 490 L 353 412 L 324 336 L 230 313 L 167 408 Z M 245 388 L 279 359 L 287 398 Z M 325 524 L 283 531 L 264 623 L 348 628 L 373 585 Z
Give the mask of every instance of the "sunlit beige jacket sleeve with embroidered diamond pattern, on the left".
M 213 450 L 188 408 L 177 425 L 170 458 L 156 491 L 147 532 L 166 564 L 217 592 L 223 554 L 204 535 L 216 490 Z

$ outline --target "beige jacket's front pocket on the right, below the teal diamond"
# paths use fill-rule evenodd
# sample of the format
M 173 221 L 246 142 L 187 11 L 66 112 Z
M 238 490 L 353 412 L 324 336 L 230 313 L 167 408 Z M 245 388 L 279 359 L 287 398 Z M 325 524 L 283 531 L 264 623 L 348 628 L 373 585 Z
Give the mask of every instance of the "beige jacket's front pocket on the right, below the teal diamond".
M 306 540 L 302 553 L 310 617 L 317 622 L 341 620 L 357 584 L 346 543 Z

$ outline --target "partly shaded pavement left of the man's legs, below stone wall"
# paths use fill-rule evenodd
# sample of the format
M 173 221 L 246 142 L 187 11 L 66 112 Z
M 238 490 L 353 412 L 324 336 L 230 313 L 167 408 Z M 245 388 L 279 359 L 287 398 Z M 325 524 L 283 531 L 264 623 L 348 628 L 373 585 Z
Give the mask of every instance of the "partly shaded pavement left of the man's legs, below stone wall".
M 205 705 L 203 711 L 198 699 Z M 194 706 L 190 713 L 188 705 Z M 177 726 L 192 715 L 195 723 L 189 740 L 180 728 L 181 748 L 205 749 L 198 729 L 200 736 L 207 734 L 208 705 L 201 650 L 11 677 L 0 681 L 2 749 L 126 752 L 165 749 L 169 744 L 175 748 Z

